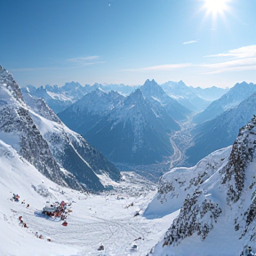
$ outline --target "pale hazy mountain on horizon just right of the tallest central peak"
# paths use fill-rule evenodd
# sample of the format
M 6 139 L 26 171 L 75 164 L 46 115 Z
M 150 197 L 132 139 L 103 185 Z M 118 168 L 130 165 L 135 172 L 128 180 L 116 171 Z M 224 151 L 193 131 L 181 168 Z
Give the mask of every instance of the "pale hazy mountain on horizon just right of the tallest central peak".
M 177 100 L 182 106 L 188 108 L 192 112 L 202 111 L 210 104 L 209 100 L 204 100 L 203 98 L 198 97 L 190 87 L 183 83 L 183 81 L 168 81 L 161 84 L 161 87 L 170 97 Z

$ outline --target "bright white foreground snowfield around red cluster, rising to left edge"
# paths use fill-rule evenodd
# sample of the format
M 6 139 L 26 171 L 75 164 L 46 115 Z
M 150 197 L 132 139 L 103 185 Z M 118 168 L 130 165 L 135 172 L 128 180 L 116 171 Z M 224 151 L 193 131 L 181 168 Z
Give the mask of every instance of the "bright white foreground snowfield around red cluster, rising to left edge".
M 4 256 L 139 256 L 164 237 L 164 227 L 177 216 L 163 219 L 133 217 L 143 212 L 156 193 L 153 184 L 132 172 L 123 172 L 110 193 L 84 194 L 56 185 L 9 145 L 0 140 L 0 255 Z M 20 195 L 13 202 L 12 193 Z M 25 200 L 25 204 L 21 202 Z M 70 203 L 68 226 L 39 212 L 50 202 Z M 26 205 L 29 207 L 26 208 Z M 20 225 L 19 217 L 28 228 Z M 44 239 L 37 238 L 36 232 Z M 47 241 L 47 238 L 51 239 Z M 97 249 L 103 244 L 105 250 Z M 132 245 L 138 245 L 132 249 Z

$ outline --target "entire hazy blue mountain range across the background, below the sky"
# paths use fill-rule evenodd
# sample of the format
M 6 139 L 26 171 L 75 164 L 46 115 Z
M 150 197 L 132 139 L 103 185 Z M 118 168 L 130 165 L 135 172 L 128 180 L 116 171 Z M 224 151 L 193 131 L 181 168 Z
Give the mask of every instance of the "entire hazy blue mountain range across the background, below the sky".
M 141 97 L 134 97 L 140 94 L 137 90 Z M 189 143 L 178 137 L 176 140 L 178 149 L 175 149 L 175 154 L 181 147 L 185 156 L 180 163 L 186 166 L 196 164 L 212 151 L 232 144 L 239 126 L 246 124 L 254 114 L 253 104 L 237 106 L 253 92 L 256 92 L 256 85 L 245 82 L 228 90 L 193 88 L 182 81 L 159 85 L 155 80 L 147 80 L 145 84 L 134 87 L 124 84 L 82 86 L 72 82 L 62 87 L 46 85 L 36 89 L 29 85 L 23 89 L 24 95 L 29 93 L 42 97 L 55 109 L 65 108 L 58 113 L 62 122 L 116 164 L 156 164 L 167 160 L 174 153 L 170 136 L 180 131 L 180 125 L 188 123 L 188 118 L 191 120 L 196 112 L 201 111 L 193 117 L 192 124 L 197 125 L 193 124 Z M 140 99 L 143 104 L 131 100 L 133 98 Z M 214 101 L 211 103 L 209 100 Z M 130 101 L 134 106 L 127 103 Z M 140 110 L 132 112 L 139 106 Z M 250 110 L 247 109 L 249 106 Z M 244 114 L 235 114 L 236 108 Z M 130 115 L 133 115 L 133 120 Z M 135 118 L 136 115 L 140 118 Z

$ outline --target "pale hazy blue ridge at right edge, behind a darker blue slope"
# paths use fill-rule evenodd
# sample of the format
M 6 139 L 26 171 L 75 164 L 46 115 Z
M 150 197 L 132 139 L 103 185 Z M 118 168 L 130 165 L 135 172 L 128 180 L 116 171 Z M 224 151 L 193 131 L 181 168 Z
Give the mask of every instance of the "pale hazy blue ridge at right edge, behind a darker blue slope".
M 193 122 L 201 124 L 216 116 L 220 116 L 226 110 L 237 107 L 254 92 L 256 92 L 256 84 L 247 84 L 245 82 L 236 84 L 219 100 L 214 100 L 203 112 L 194 116 Z

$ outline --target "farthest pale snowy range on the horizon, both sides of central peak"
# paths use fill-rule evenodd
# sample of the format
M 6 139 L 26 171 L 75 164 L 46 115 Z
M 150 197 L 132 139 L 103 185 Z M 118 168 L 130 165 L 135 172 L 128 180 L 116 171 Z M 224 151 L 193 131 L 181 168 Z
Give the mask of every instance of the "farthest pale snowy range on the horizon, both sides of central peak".
M 190 111 L 198 112 L 203 110 L 212 100 L 219 99 L 228 89 L 211 87 L 202 89 L 200 87 L 188 87 L 182 81 L 167 82 L 161 84 L 164 92 L 177 100 L 181 105 L 188 108 Z M 21 88 L 22 92 L 30 93 L 33 96 L 43 98 L 47 105 L 52 108 L 55 113 L 59 113 L 71 104 L 80 100 L 85 94 L 101 89 L 104 92 L 115 91 L 123 96 L 128 96 L 140 85 L 124 85 L 124 84 L 85 84 L 82 86 L 79 83 L 70 82 L 64 86 L 49 85 L 36 88 L 33 85 L 28 85 L 26 88 Z

